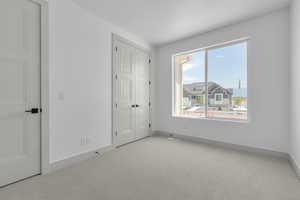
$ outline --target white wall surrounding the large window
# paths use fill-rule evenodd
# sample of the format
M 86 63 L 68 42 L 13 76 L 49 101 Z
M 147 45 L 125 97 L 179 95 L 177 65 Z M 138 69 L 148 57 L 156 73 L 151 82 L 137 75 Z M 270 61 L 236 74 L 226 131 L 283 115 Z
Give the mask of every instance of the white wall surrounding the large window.
M 171 55 L 242 37 L 251 39 L 248 66 L 250 122 L 173 118 Z M 287 152 L 289 50 L 288 9 L 157 48 L 154 129 Z

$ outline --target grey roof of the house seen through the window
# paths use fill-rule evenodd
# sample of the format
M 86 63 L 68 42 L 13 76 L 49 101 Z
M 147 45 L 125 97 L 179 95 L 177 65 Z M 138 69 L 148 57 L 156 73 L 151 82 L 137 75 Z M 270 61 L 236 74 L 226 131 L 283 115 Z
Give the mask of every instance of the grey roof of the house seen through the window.
M 232 89 L 225 89 L 215 82 L 208 82 L 207 87 L 208 87 L 208 94 L 214 93 L 214 91 L 216 91 L 217 89 L 223 90 L 226 94 L 233 93 Z M 204 94 L 205 94 L 205 82 L 197 82 L 197 83 L 183 85 L 183 96 L 204 95 Z

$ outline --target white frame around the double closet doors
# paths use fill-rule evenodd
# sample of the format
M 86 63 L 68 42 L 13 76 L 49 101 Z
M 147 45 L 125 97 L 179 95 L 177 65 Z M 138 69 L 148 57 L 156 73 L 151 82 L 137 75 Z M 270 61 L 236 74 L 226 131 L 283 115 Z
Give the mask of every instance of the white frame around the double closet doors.
M 116 33 L 112 33 L 111 34 L 111 88 L 112 88 L 112 92 L 111 92 L 111 120 L 112 120 L 112 123 L 111 123 L 111 141 L 112 141 L 112 146 L 114 148 L 117 147 L 117 140 L 116 140 L 116 134 L 115 134 L 115 130 L 116 130 L 116 114 L 115 114 L 115 95 L 114 95 L 114 92 L 116 90 L 116 85 L 115 85 L 115 75 L 116 75 L 116 69 L 115 69 L 115 56 L 114 56 L 114 43 L 115 41 L 121 41 L 121 42 L 124 42 L 132 47 L 135 47 L 137 49 L 140 49 L 144 52 L 146 52 L 149 56 L 149 59 L 151 60 L 151 53 L 150 53 L 150 50 L 146 49 L 146 48 L 143 48 L 141 47 L 140 45 L 128 40 L 128 39 L 125 39 L 123 38 L 122 36 L 116 34 Z M 151 63 L 149 63 L 149 81 L 151 81 Z M 151 105 L 151 84 L 149 84 L 149 102 L 150 102 L 150 105 Z M 151 106 L 149 107 L 149 123 L 151 124 L 152 120 L 151 120 Z M 151 133 L 151 128 L 149 128 L 149 135 Z

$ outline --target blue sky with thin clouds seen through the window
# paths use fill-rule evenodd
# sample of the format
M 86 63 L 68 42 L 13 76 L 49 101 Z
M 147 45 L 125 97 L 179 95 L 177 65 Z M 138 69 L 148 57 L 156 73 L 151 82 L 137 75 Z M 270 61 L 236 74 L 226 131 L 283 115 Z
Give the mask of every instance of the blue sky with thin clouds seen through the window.
M 183 83 L 204 82 L 204 51 L 190 54 L 193 59 L 183 65 Z M 208 51 L 208 81 L 224 88 L 247 88 L 247 43 Z

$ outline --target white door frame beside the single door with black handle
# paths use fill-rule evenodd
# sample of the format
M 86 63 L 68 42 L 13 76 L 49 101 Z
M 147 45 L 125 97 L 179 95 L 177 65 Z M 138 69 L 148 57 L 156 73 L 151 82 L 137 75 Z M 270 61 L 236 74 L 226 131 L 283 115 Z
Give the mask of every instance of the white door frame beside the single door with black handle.
M 40 6 L 40 90 L 41 90 L 41 130 L 40 130 L 40 169 L 41 174 L 50 172 L 49 145 L 49 7 L 47 0 L 30 0 Z

